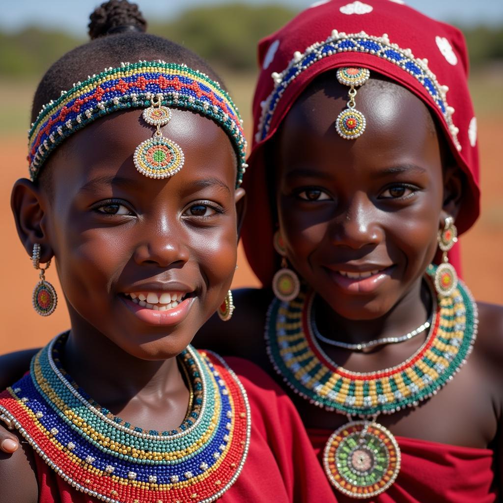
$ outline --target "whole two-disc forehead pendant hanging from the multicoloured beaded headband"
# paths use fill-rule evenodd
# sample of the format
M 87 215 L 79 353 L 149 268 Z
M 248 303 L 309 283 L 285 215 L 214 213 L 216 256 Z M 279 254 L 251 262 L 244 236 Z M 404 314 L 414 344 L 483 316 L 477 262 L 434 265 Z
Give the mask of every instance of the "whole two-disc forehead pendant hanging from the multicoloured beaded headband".
M 185 161 L 180 145 L 164 138 L 160 131 L 171 119 L 171 110 L 161 105 L 162 96 L 150 100 L 151 106 L 143 110 L 143 120 L 156 126 L 152 138 L 142 141 L 134 151 L 133 161 L 136 169 L 148 178 L 168 178 L 178 173 Z

